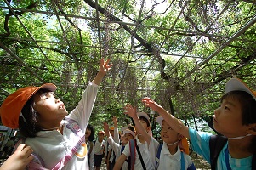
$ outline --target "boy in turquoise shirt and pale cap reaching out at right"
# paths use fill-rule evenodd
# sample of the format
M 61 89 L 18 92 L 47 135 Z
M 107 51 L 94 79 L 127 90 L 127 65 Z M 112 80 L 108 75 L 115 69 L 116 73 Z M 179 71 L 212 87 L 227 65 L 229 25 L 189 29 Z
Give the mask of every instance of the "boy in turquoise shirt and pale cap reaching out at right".
M 152 99 L 144 98 L 142 102 L 157 111 L 176 132 L 191 139 L 193 150 L 211 163 L 212 169 L 256 169 L 253 167 L 256 153 L 256 92 L 240 79 L 231 78 L 225 85 L 225 93 L 213 115 L 215 130 L 227 138 L 216 163 L 211 163 L 210 159 L 211 133 L 199 133 L 185 127 Z

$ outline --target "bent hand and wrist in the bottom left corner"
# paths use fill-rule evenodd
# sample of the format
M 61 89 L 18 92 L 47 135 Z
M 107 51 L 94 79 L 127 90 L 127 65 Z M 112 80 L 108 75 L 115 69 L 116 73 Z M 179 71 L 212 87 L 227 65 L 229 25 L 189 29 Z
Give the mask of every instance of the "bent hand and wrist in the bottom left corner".
M 33 160 L 33 150 L 26 144 L 20 144 L 14 153 L 3 162 L 0 170 L 24 170 L 26 165 Z

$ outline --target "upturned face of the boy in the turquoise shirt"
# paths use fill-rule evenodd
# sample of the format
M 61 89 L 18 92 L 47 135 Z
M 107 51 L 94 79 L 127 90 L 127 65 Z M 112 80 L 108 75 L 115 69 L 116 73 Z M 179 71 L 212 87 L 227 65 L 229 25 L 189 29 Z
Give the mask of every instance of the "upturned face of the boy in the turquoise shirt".
M 240 102 L 229 97 L 222 101 L 214 111 L 213 126 L 216 131 L 228 138 L 247 135 L 247 126 L 242 125 L 242 106 Z

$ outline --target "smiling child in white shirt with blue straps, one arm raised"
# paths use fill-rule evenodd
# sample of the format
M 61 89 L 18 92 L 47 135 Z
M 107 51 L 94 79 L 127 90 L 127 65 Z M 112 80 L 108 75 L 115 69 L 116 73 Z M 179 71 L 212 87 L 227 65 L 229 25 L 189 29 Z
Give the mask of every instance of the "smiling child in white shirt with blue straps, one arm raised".
M 152 162 L 156 162 L 156 169 L 196 169 L 194 167 L 193 162 L 191 161 L 191 157 L 188 156 L 188 144 L 187 140 L 179 133 L 176 133 L 166 121 L 162 119 L 162 116 L 156 117 L 156 122 L 158 122 L 161 129 L 161 138 L 163 140 L 163 144 L 161 149 L 159 150 L 159 142 L 156 141 L 150 134 L 145 132 L 143 125 L 139 122 L 139 117 L 136 114 L 136 108 L 132 105 L 126 105 L 124 108 L 127 112 L 126 114 L 133 118 L 136 128 L 139 130 L 145 141 L 149 144 L 149 150 L 151 152 Z M 183 144 L 185 144 L 185 148 Z M 157 156 L 157 151 L 160 151 L 160 155 Z M 184 152 L 182 152 L 183 150 Z M 161 158 L 161 159 L 160 159 Z M 159 161 L 159 162 L 158 162 Z

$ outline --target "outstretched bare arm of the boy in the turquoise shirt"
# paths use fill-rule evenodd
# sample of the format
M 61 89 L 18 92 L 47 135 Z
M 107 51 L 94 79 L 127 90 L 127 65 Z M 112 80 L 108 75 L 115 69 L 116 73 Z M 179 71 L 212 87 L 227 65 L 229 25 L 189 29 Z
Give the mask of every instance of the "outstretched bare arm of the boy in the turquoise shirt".
M 153 111 L 159 113 L 163 119 L 168 122 L 169 126 L 177 133 L 182 134 L 186 138 L 190 139 L 189 127 L 186 127 L 179 119 L 168 113 L 161 105 L 158 105 L 154 100 L 150 98 L 142 99 L 145 106 L 150 107 Z

